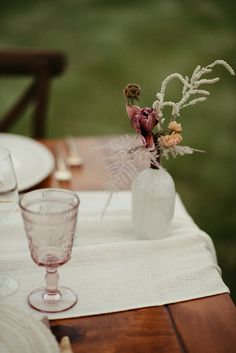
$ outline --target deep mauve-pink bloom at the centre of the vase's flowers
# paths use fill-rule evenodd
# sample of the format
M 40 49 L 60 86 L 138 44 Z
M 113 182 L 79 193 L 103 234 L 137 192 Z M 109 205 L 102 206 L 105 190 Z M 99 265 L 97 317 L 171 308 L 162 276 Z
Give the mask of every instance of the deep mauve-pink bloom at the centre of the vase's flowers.
M 140 108 L 137 105 L 126 105 L 126 111 L 130 118 L 131 125 L 137 134 L 140 134 L 143 144 L 154 150 L 155 143 L 152 130 L 157 125 L 159 118 L 152 108 Z

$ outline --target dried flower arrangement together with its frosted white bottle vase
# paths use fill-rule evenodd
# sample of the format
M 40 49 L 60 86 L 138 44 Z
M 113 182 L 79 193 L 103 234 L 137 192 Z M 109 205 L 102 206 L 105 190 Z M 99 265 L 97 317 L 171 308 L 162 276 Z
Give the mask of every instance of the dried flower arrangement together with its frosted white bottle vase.
M 206 101 L 210 93 L 201 86 L 214 84 L 219 78 L 203 76 L 211 73 L 216 65 L 222 65 L 232 75 L 235 74 L 224 60 L 216 60 L 205 67 L 198 65 L 191 77 L 171 74 L 162 82 L 151 107 L 142 108 L 135 104 L 140 99 L 141 87 L 138 84 L 128 84 L 123 91 L 126 112 L 138 138 L 124 136 L 107 145 L 114 153 L 106 168 L 106 187 L 113 192 L 123 189 L 130 179 L 134 180 L 132 216 L 139 237 L 157 239 L 168 234 L 174 214 L 175 186 L 170 174 L 161 167 L 161 158 L 202 152 L 181 144 L 183 137 L 179 118 L 183 108 Z M 176 102 L 166 100 L 168 83 L 173 79 L 183 85 L 182 96 Z M 168 120 L 163 113 L 167 106 L 172 108 Z M 146 162 L 146 168 L 141 172 L 138 168 L 140 161 Z

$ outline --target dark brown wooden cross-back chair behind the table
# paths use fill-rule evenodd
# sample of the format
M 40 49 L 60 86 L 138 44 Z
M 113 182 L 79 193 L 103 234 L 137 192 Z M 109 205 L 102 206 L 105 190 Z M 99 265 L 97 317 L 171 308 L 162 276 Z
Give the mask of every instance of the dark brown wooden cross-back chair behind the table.
M 52 78 L 64 71 L 65 67 L 66 57 L 58 51 L 0 51 L 0 76 L 33 78 L 33 82 L 1 118 L 0 131 L 8 131 L 29 104 L 33 103 L 32 137 L 44 137 L 50 83 Z

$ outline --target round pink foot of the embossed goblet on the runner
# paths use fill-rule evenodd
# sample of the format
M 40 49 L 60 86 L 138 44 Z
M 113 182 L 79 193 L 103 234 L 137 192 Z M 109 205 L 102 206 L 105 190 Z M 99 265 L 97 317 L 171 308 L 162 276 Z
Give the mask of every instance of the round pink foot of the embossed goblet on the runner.
M 77 294 L 70 288 L 58 287 L 61 295 L 55 299 L 45 300 L 45 288 L 39 288 L 31 292 L 28 296 L 28 303 L 32 308 L 47 312 L 58 313 L 72 308 L 78 301 Z

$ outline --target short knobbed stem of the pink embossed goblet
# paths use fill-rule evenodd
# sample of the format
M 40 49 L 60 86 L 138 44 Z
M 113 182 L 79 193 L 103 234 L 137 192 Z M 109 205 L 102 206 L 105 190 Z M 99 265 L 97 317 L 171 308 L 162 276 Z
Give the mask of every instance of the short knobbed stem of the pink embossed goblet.
M 61 293 L 58 290 L 59 274 L 57 267 L 48 268 L 45 274 L 46 289 L 43 295 L 46 301 L 55 301 L 61 298 Z

